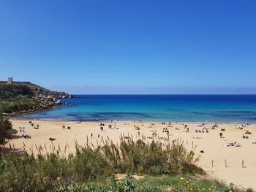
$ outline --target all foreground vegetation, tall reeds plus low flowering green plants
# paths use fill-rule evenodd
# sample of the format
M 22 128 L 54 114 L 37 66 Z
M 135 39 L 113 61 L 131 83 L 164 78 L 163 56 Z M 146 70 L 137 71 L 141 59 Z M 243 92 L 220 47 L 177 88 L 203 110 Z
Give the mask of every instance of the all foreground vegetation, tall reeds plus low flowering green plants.
M 121 137 L 118 145 L 109 139 L 97 147 L 89 142 L 76 145 L 76 153 L 68 156 L 61 155 L 54 146 L 46 155 L 42 154 L 47 148 L 37 146 L 37 156 L 2 150 L 0 191 L 239 191 L 234 186 L 192 177 L 205 175 L 195 165 L 198 158 L 194 149 L 187 150 L 181 140 L 148 143 Z M 119 182 L 112 177 L 127 171 L 162 177 L 136 182 L 129 174 Z M 106 178 L 111 177 L 107 182 Z

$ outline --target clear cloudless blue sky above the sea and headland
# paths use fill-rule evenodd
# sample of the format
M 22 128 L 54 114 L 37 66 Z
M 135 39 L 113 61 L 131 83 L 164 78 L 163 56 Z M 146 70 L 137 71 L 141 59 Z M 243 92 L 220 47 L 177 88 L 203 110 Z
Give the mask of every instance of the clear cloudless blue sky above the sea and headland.
M 69 93 L 256 93 L 256 1 L 0 1 L 0 79 Z

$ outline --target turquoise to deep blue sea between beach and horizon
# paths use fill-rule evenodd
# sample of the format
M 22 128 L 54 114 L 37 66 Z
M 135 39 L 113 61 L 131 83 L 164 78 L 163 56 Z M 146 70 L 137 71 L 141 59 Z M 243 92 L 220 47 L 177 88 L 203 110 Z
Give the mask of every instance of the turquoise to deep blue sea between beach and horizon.
M 256 122 L 256 95 L 80 95 L 69 106 L 21 118 Z

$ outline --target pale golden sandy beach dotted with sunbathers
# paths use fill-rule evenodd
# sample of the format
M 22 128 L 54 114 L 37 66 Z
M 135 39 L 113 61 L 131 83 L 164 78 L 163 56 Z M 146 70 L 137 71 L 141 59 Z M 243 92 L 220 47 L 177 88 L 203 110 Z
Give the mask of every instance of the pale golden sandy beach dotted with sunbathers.
M 31 150 L 37 153 L 39 145 L 47 148 L 42 153 L 50 152 L 52 146 L 60 147 L 63 155 L 74 153 L 75 142 L 78 142 L 78 145 L 85 145 L 87 138 L 92 145 L 100 145 L 108 137 L 113 142 L 118 143 L 121 134 L 125 137 L 132 136 L 133 139 L 138 139 L 140 133 L 140 137 L 143 135 L 150 142 L 153 132 L 157 133 L 155 138 L 157 140 L 158 138 L 167 138 L 167 134 L 163 132 L 163 128 L 167 128 L 170 141 L 182 139 L 188 149 L 191 149 L 192 145 L 197 146 L 195 153 L 200 155 L 198 166 L 202 167 L 210 177 L 225 180 L 227 183 L 234 183 L 241 187 L 256 189 L 254 182 L 256 180 L 256 155 L 254 155 L 256 144 L 252 143 L 256 140 L 256 124 L 251 124 L 241 130 L 238 128 L 241 125 L 218 124 L 217 128 L 212 129 L 213 123 L 207 123 L 205 127 L 208 128 L 208 133 L 206 133 L 204 126 L 197 126 L 200 123 L 186 123 L 187 128 L 189 128 L 188 132 L 184 123 L 171 123 L 169 125 L 169 123 L 162 124 L 162 122 L 100 122 L 105 124 L 103 131 L 100 130 L 99 122 L 32 120 L 32 123 L 34 126 L 39 125 L 39 128 L 35 129 L 34 126 L 31 126 L 29 120 L 12 119 L 13 128 L 19 132 L 16 134 L 17 137 L 15 136 L 9 141 L 10 144 L 20 149 L 26 145 L 26 150 L 29 153 Z M 70 129 L 67 128 L 68 126 Z M 25 132 L 20 132 L 20 127 L 25 127 L 23 129 Z M 140 130 L 135 127 L 139 127 Z M 223 136 L 220 138 L 219 133 L 222 128 L 225 128 L 225 131 L 222 131 Z M 245 134 L 247 130 L 252 134 Z M 30 135 L 31 139 L 18 137 L 22 134 Z M 244 139 L 243 134 L 249 138 Z M 50 141 L 50 137 L 56 140 Z M 227 142 L 238 142 L 241 147 L 227 147 Z M 65 147 L 66 153 L 64 154 Z M 244 161 L 244 167 L 242 167 L 242 161 Z

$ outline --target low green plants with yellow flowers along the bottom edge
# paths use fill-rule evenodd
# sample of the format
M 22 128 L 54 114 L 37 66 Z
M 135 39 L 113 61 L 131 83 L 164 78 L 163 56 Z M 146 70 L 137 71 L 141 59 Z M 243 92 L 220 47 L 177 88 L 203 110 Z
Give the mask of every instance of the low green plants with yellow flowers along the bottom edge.
M 126 174 L 124 180 L 117 181 L 115 177 L 106 184 L 99 183 L 73 183 L 72 185 L 59 185 L 55 192 L 250 192 L 252 189 L 240 189 L 235 185 L 227 185 L 218 180 L 202 179 L 200 177 L 161 176 L 146 177 L 138 181 Z

